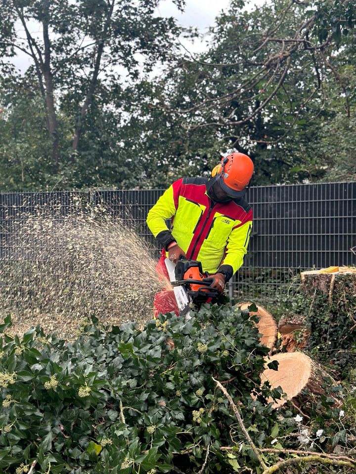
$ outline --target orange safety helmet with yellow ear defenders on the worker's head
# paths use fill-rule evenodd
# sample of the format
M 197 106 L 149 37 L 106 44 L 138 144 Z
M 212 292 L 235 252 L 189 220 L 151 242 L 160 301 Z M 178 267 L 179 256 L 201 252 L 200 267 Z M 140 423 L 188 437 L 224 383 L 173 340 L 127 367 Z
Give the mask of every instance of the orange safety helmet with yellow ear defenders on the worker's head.
M 212 176 L 219 180 L 220 187 L 227 196 L 235 198 L 249 184 L 254 171 L 252 159 L 243 153 L 231 153 L 222 158 L 221 164 L 215 166 Z

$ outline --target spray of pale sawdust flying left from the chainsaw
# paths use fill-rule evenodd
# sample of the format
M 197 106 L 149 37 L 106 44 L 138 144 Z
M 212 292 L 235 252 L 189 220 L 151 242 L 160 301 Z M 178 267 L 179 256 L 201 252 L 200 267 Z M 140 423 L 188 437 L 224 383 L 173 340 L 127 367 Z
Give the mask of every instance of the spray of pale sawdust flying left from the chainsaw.
M 2 243 L 0 316 L 11 314 L 18 332 L 40 323 L 67 338 L 91 315 L 103 324 L 151 319 L 154 294 L 170 285 L 134 226 L 97 208 L 14 220 Z

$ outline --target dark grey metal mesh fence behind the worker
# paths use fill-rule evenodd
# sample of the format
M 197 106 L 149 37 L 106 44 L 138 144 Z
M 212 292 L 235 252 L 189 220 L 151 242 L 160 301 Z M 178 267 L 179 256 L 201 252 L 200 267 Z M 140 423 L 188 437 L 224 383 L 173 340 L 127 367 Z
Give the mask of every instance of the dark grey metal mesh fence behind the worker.
M 28 216 L 48 216 L 58 224 L 66 216 L 82 216 L 100 205 L 127 221 L 158 255 L 155 239 L 145 219 L 163 190 L 89 191 L 0 194 L 0 285 L 18 271 L 20 290 L 24 272 L 17 262 L 36 259 L 44 245 L 36 236 L 17 238 Z M 273 301 L 297 284 L 306 269 L 356 264 L 356 183 L 322 183 L 255 187 L 247 199 L 254 210 L 254 225 L 243 267 L 231 281 L 230 295 L 238 299 Z M 53 272 L 60 276 L 61 237 L 46 242 Z M 355 248 L 353 248 L 355 247 Z M 28 251 L 31 249 L 32 253 Z M 11 279 L 12 284 L 14 279 Z M 88 283 L 89 284 L 89 283 Z M 0 288 L 1 290 L 1 288 Z

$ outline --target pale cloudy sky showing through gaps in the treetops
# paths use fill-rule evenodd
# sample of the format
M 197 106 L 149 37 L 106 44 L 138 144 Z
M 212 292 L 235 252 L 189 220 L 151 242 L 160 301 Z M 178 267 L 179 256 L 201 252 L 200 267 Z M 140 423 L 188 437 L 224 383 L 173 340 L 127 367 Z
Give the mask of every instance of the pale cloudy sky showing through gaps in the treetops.
M 251 5 L 262 4 L 265 0 L 252 0 Z M 186 0 L 184 12 L 181 13 L 172 0 L 162 0 L 157 7 L 157 15 L 176 17 L 178 23 L 184 27 L 196 26 L 201 33 L 206 33 L 209 26 L 214 25 L 217 15 L 222 10 L 227 10 L 229 0 Z M 41 37 L 39 26 L 35 23 L 32 26 L 31 33 L 36 38 Z M 21 30 L 21 25 L 18 25 Z M 184 46 L 192 53 L 198 53 L 206 48 L 205 42 L 195 40 L 191 43 L 188 40 L 182 40 Z M 31 58 L 25 53 L 18 51 L 18 55 L 12 58 L 12 62 L 21 71 L 24 72 L 31 64 Z

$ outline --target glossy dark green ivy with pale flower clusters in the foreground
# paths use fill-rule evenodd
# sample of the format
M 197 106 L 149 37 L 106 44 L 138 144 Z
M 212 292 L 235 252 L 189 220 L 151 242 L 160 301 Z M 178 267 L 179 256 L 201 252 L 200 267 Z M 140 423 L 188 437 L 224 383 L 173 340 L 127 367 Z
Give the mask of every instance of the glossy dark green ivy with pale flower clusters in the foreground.
M 268 350 L 248 311 L 206 305 L 190 320 L 169 314 L 141 330 L 94 323 L 73 343 L 40 328 L 19 339 L 9 326 L 7 319 L 0 339 L 4 473 L 34 459 L 43 473 L 49 465 L 53 473 L 168 472 L 173 464 L 190 472 L 207 446 L 215 472 L 231 464 L 220 451 L 231 434 L 242 445 L 233 458 L 254 466 L 212 376 L 230 380 L 225 386 L 258 445 L 276 423 L 268 387 L 260 389 Z

